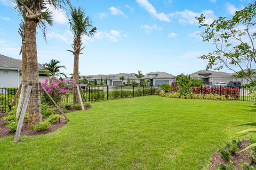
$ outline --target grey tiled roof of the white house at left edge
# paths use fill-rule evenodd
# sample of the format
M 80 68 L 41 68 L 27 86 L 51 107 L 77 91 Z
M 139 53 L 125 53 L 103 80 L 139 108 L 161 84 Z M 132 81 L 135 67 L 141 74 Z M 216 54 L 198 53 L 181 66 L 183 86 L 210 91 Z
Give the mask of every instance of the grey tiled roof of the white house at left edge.
M 21 69 L 21 60 L 0 54 L 0 67 L 9 69 Z M 39 70 L 44 70 L 43 64 L 38 64 Z

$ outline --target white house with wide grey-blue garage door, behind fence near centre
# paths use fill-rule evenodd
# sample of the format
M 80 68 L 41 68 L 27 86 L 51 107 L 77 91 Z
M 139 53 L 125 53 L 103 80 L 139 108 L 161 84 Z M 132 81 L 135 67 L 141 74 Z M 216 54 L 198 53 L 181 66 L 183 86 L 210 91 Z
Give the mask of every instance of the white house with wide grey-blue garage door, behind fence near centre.
M 172 84 L 175 82 L 175 76 L 166 72 L 150 72 L 145 75 L 145 79 L 149 79 L 150 84 L 153 85 Z

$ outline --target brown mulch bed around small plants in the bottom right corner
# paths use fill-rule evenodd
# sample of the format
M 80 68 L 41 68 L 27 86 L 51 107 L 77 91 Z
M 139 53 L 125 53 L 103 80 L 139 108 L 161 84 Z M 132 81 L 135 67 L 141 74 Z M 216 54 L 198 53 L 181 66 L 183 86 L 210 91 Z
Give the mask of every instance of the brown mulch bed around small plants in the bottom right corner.
M 242 167 L 241 167 L 241 160 L 243 160 L 244 162 L 246 162 L 247 164 L 250 165 L 251 159 L 250 159 L 250 155 L 248 154 L 247 150 L 238 153 L 240 150 L 246 148 L 250 144 L 251 143 L 250 143 L 249 140 L 247 140 L 247 139 L 244 140 L 243 143 L 242 143 L 242 147 L 237 150 L 237 153 L 235 155 L 230 155 L 231 161 L 236 166 L 235 170 L 243 170 Z M 227 150 L 227 148 L 225 148 L 225 149 Z M 229 165 L 229 162 L 226 162 L 225 160 L 223 160 L 220 156 L 220 152 L 217 151 L 217 152 L 215 152 L 215 154 L 212 157 L 212 160 L 211 160 L 211 163 L 210 163 L 210 170 L 217 169 L 219 163 L 221 163 L 223 165 Z M 253 165 L 253 166 L 256 167 L 255 165 Z

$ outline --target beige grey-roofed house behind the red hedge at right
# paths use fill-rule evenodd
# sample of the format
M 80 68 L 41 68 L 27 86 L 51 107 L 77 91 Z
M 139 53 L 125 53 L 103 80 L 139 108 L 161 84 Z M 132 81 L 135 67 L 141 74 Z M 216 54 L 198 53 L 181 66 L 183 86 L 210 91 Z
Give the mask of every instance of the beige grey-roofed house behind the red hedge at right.
M 230 81 L 236 81 L 233 74 L 226 72 L 217 72 L 211 70 L 200 70 L 190 74 L 190 78 L 199 79 L 202 78 L 205 85 L 214 85 L 218 82 L 229 83 Z

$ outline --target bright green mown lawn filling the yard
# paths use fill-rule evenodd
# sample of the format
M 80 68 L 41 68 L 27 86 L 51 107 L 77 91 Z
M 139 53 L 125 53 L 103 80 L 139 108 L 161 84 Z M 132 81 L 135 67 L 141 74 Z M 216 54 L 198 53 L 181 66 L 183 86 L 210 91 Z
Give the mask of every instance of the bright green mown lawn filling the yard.
M 146 96 L 93 103 L 57 132 L 0 139 L 0 169 L 207 169 L 252 103 Z

